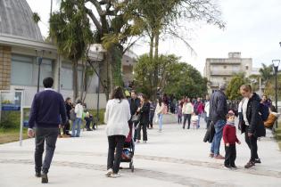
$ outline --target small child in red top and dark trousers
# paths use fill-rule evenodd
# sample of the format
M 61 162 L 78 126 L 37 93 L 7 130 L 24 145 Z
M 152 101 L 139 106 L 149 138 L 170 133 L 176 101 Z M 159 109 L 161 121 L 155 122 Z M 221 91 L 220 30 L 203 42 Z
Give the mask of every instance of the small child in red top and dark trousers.
M 225 167 L 228 169 L 236 169 L 236 142 L 240 144 L 236 136 L 236 124 L 235 124 L 235 113 L 230 110 L 227 114 L 227 125 L 223 128 L 223 141 L 225 142 L 226 156 L 225 156 Z

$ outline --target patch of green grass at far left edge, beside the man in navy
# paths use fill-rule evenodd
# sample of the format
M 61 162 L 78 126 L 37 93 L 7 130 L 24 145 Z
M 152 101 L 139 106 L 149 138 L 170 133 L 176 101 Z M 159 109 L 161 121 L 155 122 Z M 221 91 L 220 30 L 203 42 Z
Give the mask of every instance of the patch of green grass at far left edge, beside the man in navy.
M 23 128 L 22 131 L 23 139 L 28 138 L 28 129 Z M 16 142 L 20 140 L 20 129 L 3 129 L 0 128 L 0 144 L 7 143 L 7 142 Z

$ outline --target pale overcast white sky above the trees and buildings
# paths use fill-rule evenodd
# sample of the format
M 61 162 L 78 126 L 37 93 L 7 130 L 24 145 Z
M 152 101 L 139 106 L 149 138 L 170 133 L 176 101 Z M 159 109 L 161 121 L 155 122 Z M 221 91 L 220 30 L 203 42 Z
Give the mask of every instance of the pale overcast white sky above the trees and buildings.
M 48 20 L 51 0 L 27 0 L 33 12 L 41 17 L 39 27 L 44 37 L 48 34 Z M 54 0 L 54 11 L 59 8 L 59 0 Z M 206 58 L 227 58 L 229 52 L 241 52 L 243 58 L 252 58 L 253 67 L 261 63 L 271 64 L 281 59 L 281 1 L 280 0 L 217 0 L 222 12 L 224 29 L 198 23 L 192 31 L 182 30 L 196 54 L 179 39 L 161 37 L 160 53 L 176 54 L 181 61 L 192 64 L 201 73 Z M 186 22 L 187 24 L 187 22 Z M 186 26 L 188 28 L 188 26 Z M 149 52 L 145 40 L 133 48 L 137 55 Z

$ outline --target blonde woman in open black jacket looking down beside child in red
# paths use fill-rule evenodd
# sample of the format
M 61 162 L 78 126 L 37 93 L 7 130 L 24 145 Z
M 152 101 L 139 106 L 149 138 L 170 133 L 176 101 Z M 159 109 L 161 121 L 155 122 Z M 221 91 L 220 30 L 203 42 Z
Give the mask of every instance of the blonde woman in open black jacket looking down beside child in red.
M 257 140 L 259 137 L 265 136 L 266 131 L 261 118 L 260 96 L 252 92 L 251 85 L 241 85 L 240 93 L 244 96 L 244 102 L 242 103 L 243 121 L 241 124 L 241 132 L 245 133 L 245 142 L 251 150 L 251 158 L 244 167 L 250 168 L 257 163 L 260 164 Z

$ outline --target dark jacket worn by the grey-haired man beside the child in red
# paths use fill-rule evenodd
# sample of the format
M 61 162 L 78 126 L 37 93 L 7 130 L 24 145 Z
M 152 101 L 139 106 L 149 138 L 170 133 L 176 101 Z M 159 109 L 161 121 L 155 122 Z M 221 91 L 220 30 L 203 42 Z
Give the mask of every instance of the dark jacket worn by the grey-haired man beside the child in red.
M 227 120 L 227 97 L 222 91 L 212 93 L 210 100 L 210 120 L 216 124 L 219 120 Z

